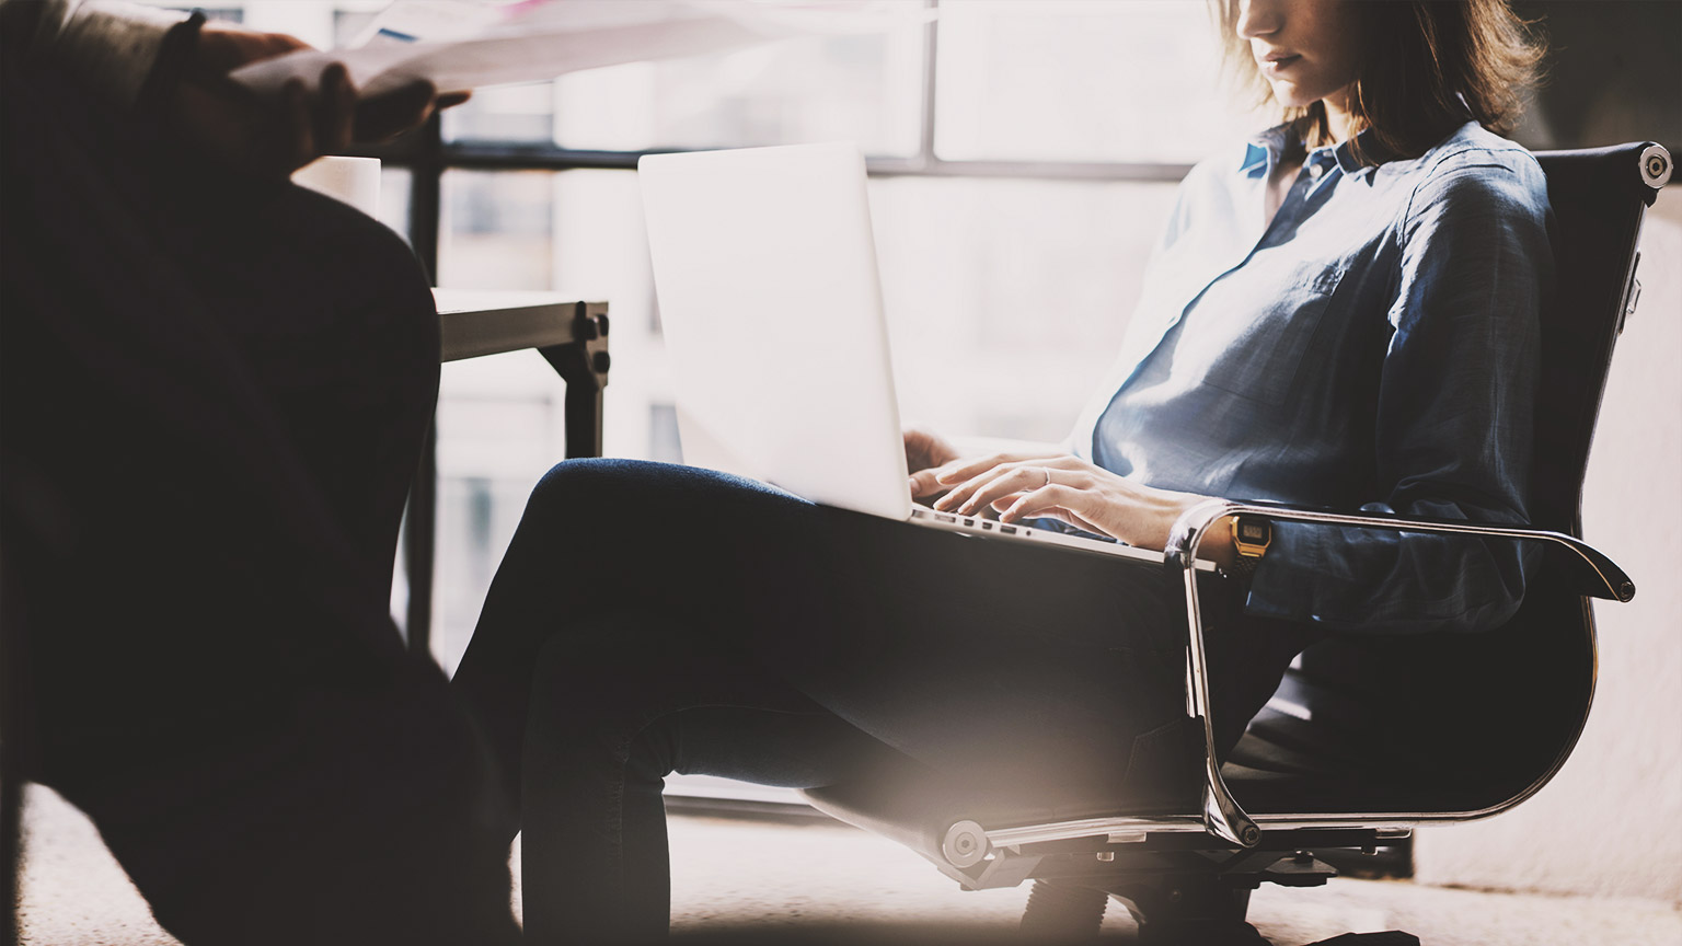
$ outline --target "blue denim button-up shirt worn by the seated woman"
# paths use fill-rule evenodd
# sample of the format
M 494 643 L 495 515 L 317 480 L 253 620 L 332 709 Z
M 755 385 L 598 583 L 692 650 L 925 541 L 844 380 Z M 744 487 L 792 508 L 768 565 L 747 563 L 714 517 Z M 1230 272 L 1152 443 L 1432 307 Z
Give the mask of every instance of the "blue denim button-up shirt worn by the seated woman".
M 1263 227 L 1283 145 L 1280 126 L 1186 177 L 1071 448 L 1211 497 L 1526 522 L 1552 278 L 1536 158 L 1475 123 L 1411 160 L 1320 148 Z M 1277 523 L 1246 611 L 1489 628 L 1517 608 L 1527 557 L 1512 542 Z

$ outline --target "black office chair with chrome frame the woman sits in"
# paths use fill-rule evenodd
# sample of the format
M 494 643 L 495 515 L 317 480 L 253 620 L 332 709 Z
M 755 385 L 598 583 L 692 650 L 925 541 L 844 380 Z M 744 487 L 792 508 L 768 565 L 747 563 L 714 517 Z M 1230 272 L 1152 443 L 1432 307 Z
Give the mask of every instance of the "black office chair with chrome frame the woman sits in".
M 1179 806 L 1139 810 L 1112 798 L 1051 808 L 910 768 L 811 789 L 812 806 L 910 847 L 965 889 L 1034 880 L 1023 927 L 1046 938 L 1097 934 L 1113 896 L 1139 921 L 1142 943 L 1201 946 L 1263 943 L 1245 924 L 1251 890 L 1324 884 L 1336 870 L 1315 852 L 1371 852 L 1416 825 L 1497 815 L 1541 789 L 1574 747 L 1593 699 L 1589 599 L 1635 594 L 1616 564 L 1581 542 L 1579 503 L 1613 343 L 1640 295 L 1642 217 L 1670 177 L 1670 155 L 1632 143 L 1537 158 L 1556 219 L 1558 291 L 1542 313 L 1532 527 L 1213 500 L 1187 512 L 1167 545 L 1187 611 L 1189 746 L 1184 763 L 1171 763 L 1186 769 L 1174 773 Z M 1191 562 L 1208 529 L 1233 513 L 1522 540 L 1547 552 L 1499 630 L 1312 645 L 1218 761 Z

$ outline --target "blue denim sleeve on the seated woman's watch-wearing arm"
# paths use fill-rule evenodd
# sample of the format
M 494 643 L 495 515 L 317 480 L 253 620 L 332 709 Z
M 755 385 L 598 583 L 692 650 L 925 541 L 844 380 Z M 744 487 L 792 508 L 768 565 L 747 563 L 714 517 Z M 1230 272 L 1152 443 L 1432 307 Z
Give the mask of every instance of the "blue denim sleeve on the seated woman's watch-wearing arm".
M 1507 158 L 1509 155 L 1499 155 Z M 1546 178 L 1527 155 L 1440 167 L 1401 221 L 1367 512 L 1527 522 Z M 1475 631 L 1524 596 L 1534 542 L 1275 523 L 1251 614 L 1367 633 Z

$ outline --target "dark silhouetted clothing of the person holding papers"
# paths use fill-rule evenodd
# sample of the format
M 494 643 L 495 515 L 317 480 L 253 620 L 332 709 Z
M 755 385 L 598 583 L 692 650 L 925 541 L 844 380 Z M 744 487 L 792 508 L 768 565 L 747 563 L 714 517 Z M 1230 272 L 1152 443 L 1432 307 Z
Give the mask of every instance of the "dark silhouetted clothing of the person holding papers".
M 513 939 L 486 754 L 389 618 L 420 268 L 30 61 L 35 12 L 0 64 L 8 756 L 188 944 Z

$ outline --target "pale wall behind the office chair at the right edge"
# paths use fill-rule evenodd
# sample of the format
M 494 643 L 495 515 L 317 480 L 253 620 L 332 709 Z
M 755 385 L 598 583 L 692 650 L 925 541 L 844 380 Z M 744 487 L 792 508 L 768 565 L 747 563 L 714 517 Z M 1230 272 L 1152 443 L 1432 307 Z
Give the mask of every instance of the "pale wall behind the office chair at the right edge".
M 1583 500 L 1635 601 L 1595 608 L 1600 683 L 1564 769 L 1507 815 L 1421 830 L 1421 882 L 1682 904 L 1682 189 L 1648 212 L 1638 276 Z

